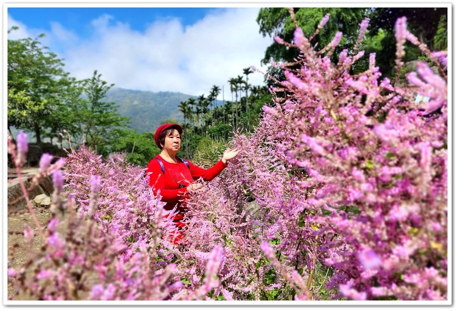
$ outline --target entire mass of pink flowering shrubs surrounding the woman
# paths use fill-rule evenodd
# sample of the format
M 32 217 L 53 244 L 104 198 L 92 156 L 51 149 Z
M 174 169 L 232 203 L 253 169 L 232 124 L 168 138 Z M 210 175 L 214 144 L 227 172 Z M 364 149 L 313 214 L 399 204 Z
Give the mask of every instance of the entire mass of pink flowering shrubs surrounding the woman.
M 244 151 L 187 201 L 184 245 L 170 243 L 171 221 L 143 168 L 120 155 L 103 161 L 84 146 L 65 163 L 50 165 L 43 155 L 40 174 L 52 174 L 55 187 L 51 218 L 46 228 L 37 224 L 43 247 L 29 243 L 30 260 L 8 269 L 17 293 L 447 300 L 447 54 L 427 50 L 405 23 L 396 22 L 398 68 L 408 40 L 439 73 L 419 62 L 402 87 L 379 81 L 373 54 L 367 71 L 349 73 L 364 53 L 368 20 L 337 64 L 330 55 L 341 33 L 321 51 L 299 27 L 293 43 L 276 38 L 299 48 L 300 66 L 279 65 L 286 80 L 271 89 L 259 125 L 249 135 L 233 133 L 230 145 Z M 429 101 L 415 103 L 417 93 Z M 22 133 L 16 148 L 10 144 L 20 167 Z M 64 235 L 56 229 L 62 225 Z M 24 231 L 29 242 L 32 235 Z

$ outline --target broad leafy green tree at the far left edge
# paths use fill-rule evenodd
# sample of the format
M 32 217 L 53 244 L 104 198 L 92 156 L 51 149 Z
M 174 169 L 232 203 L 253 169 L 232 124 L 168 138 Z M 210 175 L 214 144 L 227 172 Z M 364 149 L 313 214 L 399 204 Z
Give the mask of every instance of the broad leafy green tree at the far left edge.
M 16 30 L 12 27 L 8 30 Z M 39 38 L 8 39 L 7 51 L 7 108 L 8 131 L 11 127 L 31 131 L 36 143 L 41 143 L 43 129 L 55 126 L 47 118 L 72 88 L 72 80 L 63 70 L 57 55 L 41 46 Z

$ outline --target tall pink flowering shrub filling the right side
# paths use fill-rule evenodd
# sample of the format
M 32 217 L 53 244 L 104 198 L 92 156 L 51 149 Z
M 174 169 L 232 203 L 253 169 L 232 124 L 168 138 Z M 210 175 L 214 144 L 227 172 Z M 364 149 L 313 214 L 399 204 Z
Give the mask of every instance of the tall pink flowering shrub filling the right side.
M 361 22 L 361 33 L 367 23 Z M 326 49 L 332 51 L 339 37 Z M 285 151 L 288 163 L 306 169 L 297 183 L 311 191 L 282 208 L 295 215 L 285 217 L 278 232 L 289 237 L 276 249 L 286 252 L 285 264 L 298 255 L 295 243 L 332 267 L 326 287 L 338 290 L 335 298 L 447 299 L 446 52 L 428 51 L 406 30 L 405 18 L 396 22 L 396 38 L 398 66 L 409 40 L 441 74 L 419 62 L 407 76 L 413 87 L 378 83 L 370 55 L 369 69 L 352 76 L 350 67 L 363 52 L 344 50 L 334 66 L 297 28 L 293 45 L 301 51 L 301 66 L 283 66 L 287 80 L 275 91 L 287 95 L 264 108 L 277 125 L 296 130 L 292 140 L 288 132 L 270 135 L 282 138 L 277 150 Z M 429 102 L 416 104 L 416 93 Z M 302 230 L 292 239 L 300 210 L 302 228 L 314 232 Z M 315 250 L 309 249 L 312 236 Z

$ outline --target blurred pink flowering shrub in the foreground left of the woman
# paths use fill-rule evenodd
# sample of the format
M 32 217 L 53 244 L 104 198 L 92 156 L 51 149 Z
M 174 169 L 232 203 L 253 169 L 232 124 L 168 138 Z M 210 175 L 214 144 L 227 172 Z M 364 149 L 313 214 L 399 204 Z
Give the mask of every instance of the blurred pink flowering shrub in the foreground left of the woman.
M 26 136 L 19 133 L 17 148 L 8 144 L 20 172 Z M 55 189 L 46 228 L 35 218 L 43 244 L 38 250 L 32 246 L 34 232 L 27 227 L 28 261 L 12 267 L 18 246 L 8 256 L 15 295 L 29 300 L 195 300 L 215 286 L 218 247 L 202 256 L 205 279 L 195 289 L 174 278 L 175 264 L 159 260 L 160 228 L 167 221 L 162 221 L 163 204 L 151 197 L 142 169 L 120 158 L 103 162 L 84 146 L 71 150 L 66 161 L 50 165 L 51 158 L 43 154 L 34 178 L 37 182 L 51 174 Z

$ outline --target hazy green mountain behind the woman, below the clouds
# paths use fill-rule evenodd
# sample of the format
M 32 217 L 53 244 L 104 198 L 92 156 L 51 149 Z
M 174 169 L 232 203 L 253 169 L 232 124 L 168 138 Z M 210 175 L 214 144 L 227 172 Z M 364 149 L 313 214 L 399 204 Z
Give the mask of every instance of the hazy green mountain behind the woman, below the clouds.
M 167 119 L 183 122 L 183 114 L 178 110 L 181 101 L 191 95 L 177 92 L 148 92 L 113 87 L 108 90 L 103 101 L 116 103 L 117 112 L 130 118 L 130 127 L 138 133 L 155 131 Z

